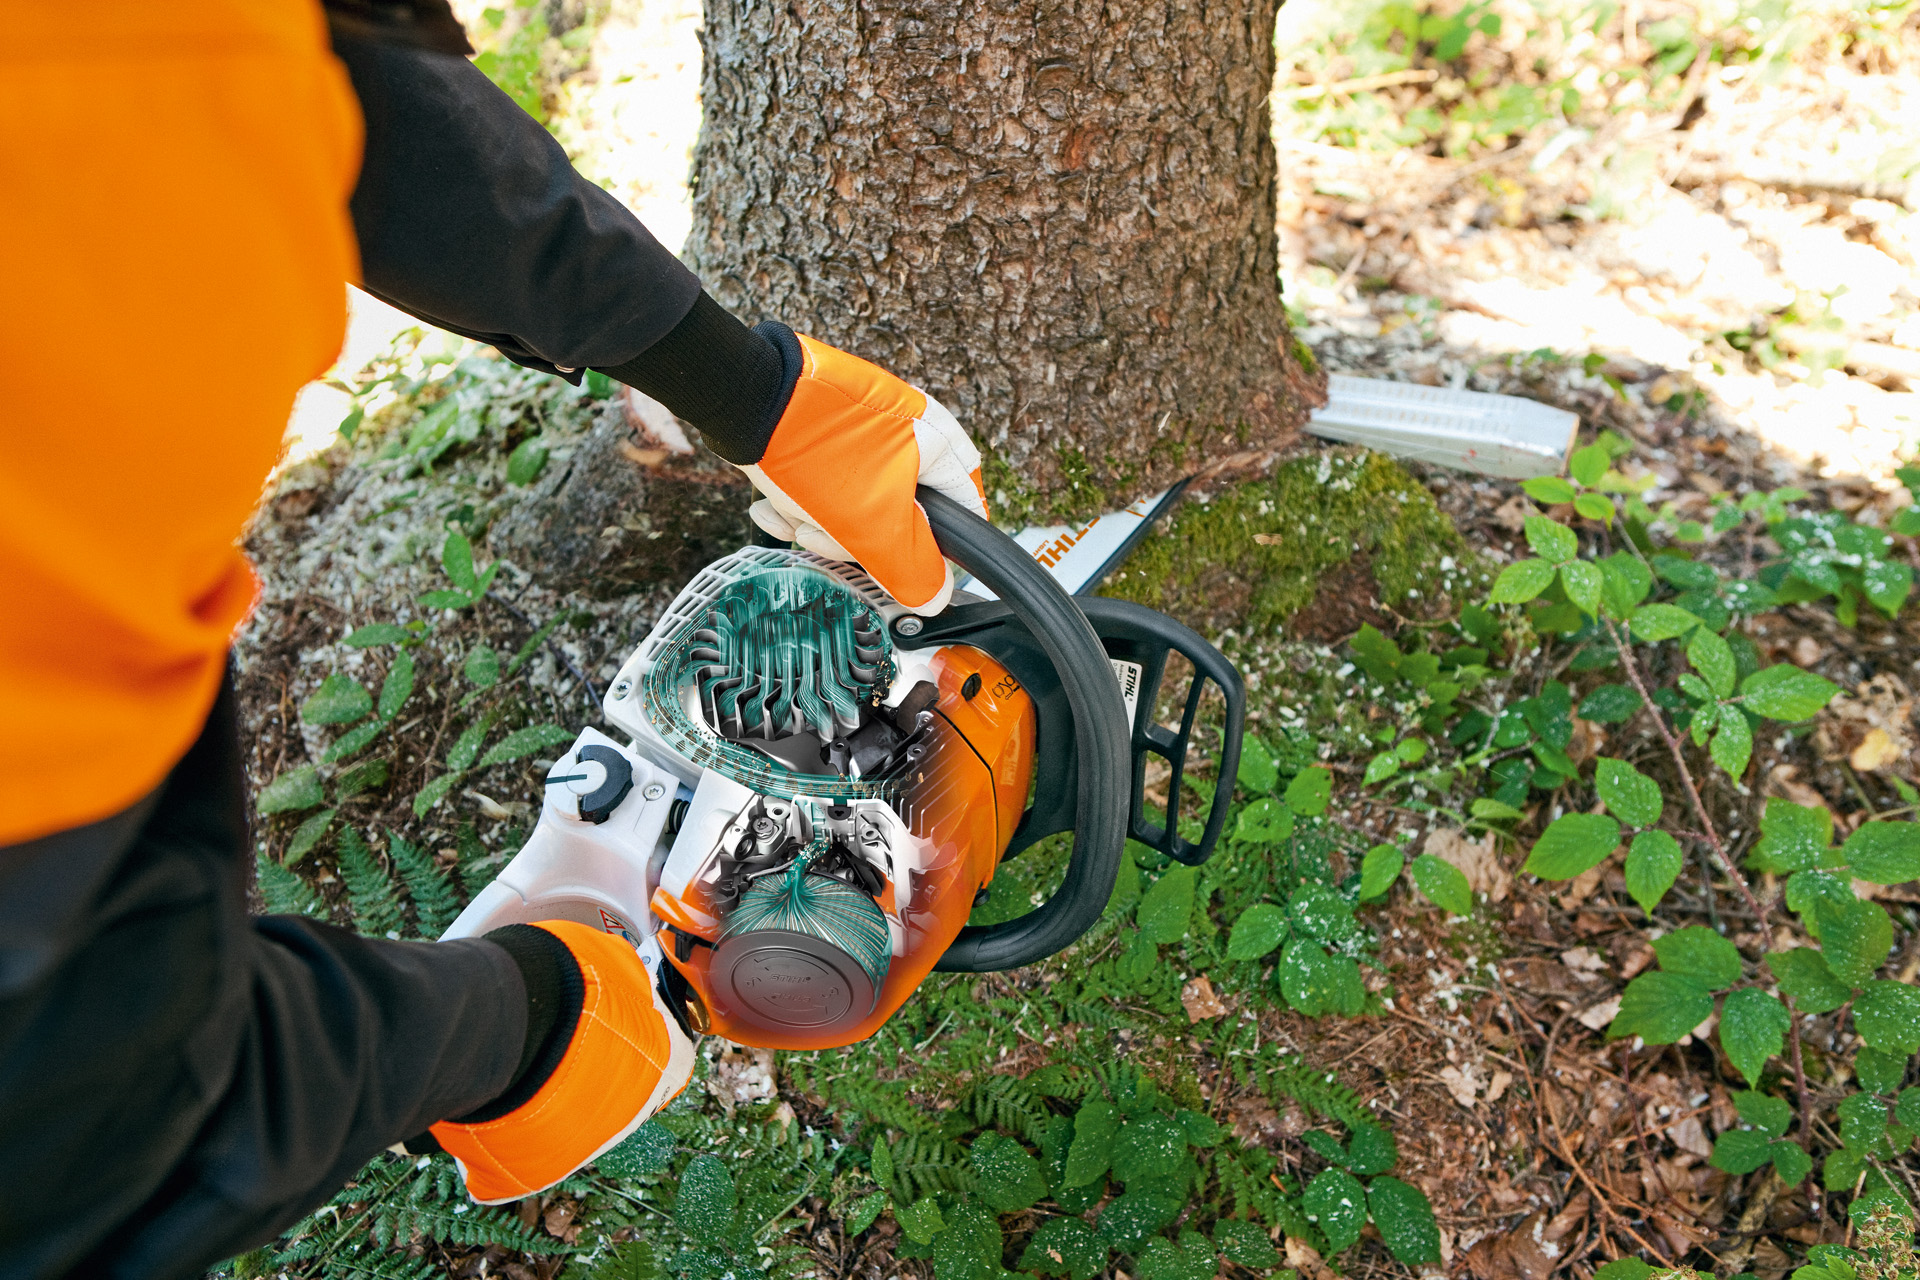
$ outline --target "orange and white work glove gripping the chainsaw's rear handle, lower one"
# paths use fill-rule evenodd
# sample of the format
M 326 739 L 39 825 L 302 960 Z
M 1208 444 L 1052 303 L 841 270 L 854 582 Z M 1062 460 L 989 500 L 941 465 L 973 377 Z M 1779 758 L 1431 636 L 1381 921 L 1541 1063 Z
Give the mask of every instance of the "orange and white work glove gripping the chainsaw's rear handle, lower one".
M 559 983 L 572 1019 L 555 1025 L 551 1044 L 507 1098 L 432 1126 L 467 1194 L 484 1205 L 561 1182 L 647 1123 L 693 1075 L 693 1042 L 624 936 L 564 919 L 530 929 L 559 938 L 561 960 L 572 960 L 561 965 Z

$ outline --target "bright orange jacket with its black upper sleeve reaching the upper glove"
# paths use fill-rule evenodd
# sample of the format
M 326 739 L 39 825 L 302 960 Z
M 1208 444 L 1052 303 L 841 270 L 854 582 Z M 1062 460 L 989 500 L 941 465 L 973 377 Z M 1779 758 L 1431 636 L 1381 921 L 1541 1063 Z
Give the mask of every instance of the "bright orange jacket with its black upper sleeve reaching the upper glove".
M 257 591 L 236 539 L 361 271 L 697 422 L 728 378 L 689 351 L 772 361 L 720 418 L 755 426 L 783 390 L 772 347 L 695 309 L 699 280 L 449 52 L 444 0 L 324 8 L 15 0 L 0 23 L 0 848 L 125 810 L 200 733 Z M 424 21 L 384 31 L 396 12 Z

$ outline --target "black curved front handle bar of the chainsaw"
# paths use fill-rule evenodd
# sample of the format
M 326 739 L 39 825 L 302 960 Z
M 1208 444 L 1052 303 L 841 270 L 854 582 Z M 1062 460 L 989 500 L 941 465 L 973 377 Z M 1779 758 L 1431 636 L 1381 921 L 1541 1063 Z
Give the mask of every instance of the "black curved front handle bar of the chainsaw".
M 933 965 L 947 973 L 1018 969 L 1071 946 L 1114 896 L 1127 844 L 1133 793 L 1127 712 L 1094 635 L 1073 597 L 1020 543 L 960 503 L 922 487 L 920 507 L 941 553 L 979 578 L 1039 639 L 1073 710 L 1075 821 L 1073 854 L 1060 889 L 1043 906 L 1000 925 L 968 925 Z M 916 647 L 924 626 L 895 620 L 895 643 Z

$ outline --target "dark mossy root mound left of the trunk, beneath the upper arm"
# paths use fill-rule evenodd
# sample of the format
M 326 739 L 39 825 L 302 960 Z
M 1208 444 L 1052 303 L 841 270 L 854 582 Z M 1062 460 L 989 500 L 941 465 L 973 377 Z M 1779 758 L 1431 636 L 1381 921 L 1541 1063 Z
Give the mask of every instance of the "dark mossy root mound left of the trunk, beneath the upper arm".
M 611 601 L 737 551 L 753 537 L 751 501 L 745 476 L 628 390 L 488 539 L 541 585 Z

